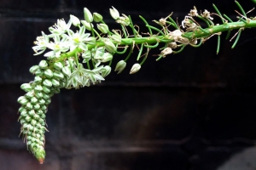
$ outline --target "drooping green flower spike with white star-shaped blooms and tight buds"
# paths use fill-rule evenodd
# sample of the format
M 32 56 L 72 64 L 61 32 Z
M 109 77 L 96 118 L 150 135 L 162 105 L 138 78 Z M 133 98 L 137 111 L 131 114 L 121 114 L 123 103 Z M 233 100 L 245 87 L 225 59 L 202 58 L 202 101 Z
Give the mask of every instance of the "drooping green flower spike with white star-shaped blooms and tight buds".
M 230 41 L 236 38 L 232 45 L 232 48 L 235 48 L 241 31 L 256 27 L 256 17 L 247 17 L 252 10 L 246 13 L 240 3 L 235 3 L 240 9 L 240 12 L 236 11 L 236 21 L 221 14 L 214 4 L 216 13 L 204 10 L 199 14 L 194 7 L 181 24 L 172 19 L 172 14 L 160 20 L 153 20 L 159 27 L 149 25 L 147 20 L 139 16 L 148 28 L 147 33 L 140 32 L 138 26 L 133 25 L 131 16 L 120 15 L 116 8 L 110 8 L 109 12 L 113 20 L 121 26 L 121 30 L 110 31 L 102 15 L 91 14 L 88 8 L 84 8 L 84 20 L 79 20 L 74 15 L 70 15 L 68 22 L 57 20 L 54 26 L 49 27 L 49 35 L 42 31 L 42 36 L 37 37 L 34 42 L 34 55 L 44 54 L 46 58 L 30 68 L 30 72 L 35 75 L 34 80 L 20 86 L 26 92 L 18 99 L 21 105 L 20 134 L 26 141 L 28 150 L 40 163 L 44 162 L 44 133 L 48 131 L 45 127 L 45 114 L 51 102 L 50 98 L 60 93 L 61 88 L 84 88 L 104 81 L 112 71 L 114 54 L 125 54 L 130 48 L 125 59 L 119 60 L 115 65 L 114 71 L 119 74 L 125 69 L 127 60 L 137 47 L 137 63 L 130 71 L 130 74 L 134 74 L 142 68 L 150 49 L 159 48 L 160 44 L 163 46 L 160 53 L 156 54 L 156 60 L 169 54 L 178 54 L 188 45 L 200 47 L 212 36 L 217 36 L 218 54 L 222 32 L 228 32 L 228 39 L 232 30 L 238 30 L 230 38 Z M 213 16 L 219 17 L 222 24 L 215 24 Z M 131 28 L 131 34 L 126 27 Z

